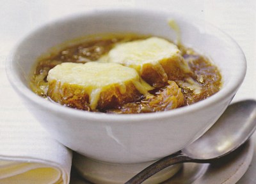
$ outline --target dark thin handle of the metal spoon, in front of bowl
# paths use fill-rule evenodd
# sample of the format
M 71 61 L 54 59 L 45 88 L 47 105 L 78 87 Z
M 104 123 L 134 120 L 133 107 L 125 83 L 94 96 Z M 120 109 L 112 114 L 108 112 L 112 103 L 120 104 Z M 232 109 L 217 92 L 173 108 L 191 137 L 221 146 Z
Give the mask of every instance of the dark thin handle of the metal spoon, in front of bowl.
M 163 159 L 154 162 L 150 166 L 143 169 L 140 173 L 133 176 L 129 181 L 126 181 L 125 184 L 140 184 L 143 181 L 147 180 L 150 176 L 158 173 L 168 166 L 172 166 L 174 164 L 179 164 L 183 162 L 191 162 L 193 159 L 188 157 L 186 154 L 181 151 L 173 153 L 172 155 L 168 155 Z

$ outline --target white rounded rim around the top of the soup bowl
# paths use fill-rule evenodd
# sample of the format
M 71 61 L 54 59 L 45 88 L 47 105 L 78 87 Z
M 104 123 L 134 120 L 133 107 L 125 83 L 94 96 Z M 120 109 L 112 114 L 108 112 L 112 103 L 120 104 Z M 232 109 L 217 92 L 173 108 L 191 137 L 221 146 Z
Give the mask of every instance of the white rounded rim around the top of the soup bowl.
M 23 41 L 26 41 L 26 39 L 29 38 L 32 34 L 36 34 L 37 32 L 40 32 L 41 29 L 44 29 L 44 27 L 47 27 L 49 25 L 54 25 L 56 22 L 66 22 L 68 20 L 74 20 L 76 18 L 86 17 L 86 16 L 93 16 L 101 13 L 101 15 L 104 15 L 105 13 L 131 13 L 131 11 L 140 11 L 140 13 L 160 13 L 164 15 L 175 15 L 176 17 L 180 17 L 184 20 L 184 15 L 175 13 L 173 11 L 160 11 L 160 10 L 147 10 L 147 9 L 140 9 L 140 8 L 133 8 L 133 9 L 123 9 L 123 8 L 106 8 L 104 10 L 88 10 L 83 13 L 77 13 L 74 15 L 69 15 L 67 17 L 57 18 L 56 20 L 52 20 L 51 22 L 48 22 L 40 27 L 37 27 L 34 31 L 31 31 L 27 34 L 27 36 L 24 36 L 20 41 L 18 41 L 17 45 L 13 48 L 13 50 L 10 52 L 6 59 L 5 67 L 6 67 L 6 74 L 8 76 L 8 80 L 10 81 L 12 87 L 20 94 L 20 96 L 25 97 L 29 101 L 33 101 L 33 103 L 38 104 L 39 106 L 42 106 L 43 108 L 49 109 L 55 113 L 60 113 L 62 111 L 63 113 L 67 115 L 72 115 L 74 117 L 79 118 L 86 118 L 90 120 L 95 121 L 101 121 L 101 122 L 140 122 L 142 120 L 148 120 L 149 118 L 151 120 L 159 120 L 159 118 L 170 118 L 170 117 L 177 117 L 180 115 L 184 115 L 184 113 L 193 113 L 195 111 L 198 111 L 202 108 L 206 108 L 207 106 L 212 106 L 213 104 L 220 103 L 225 97 L 232 96 L 235 94 L 236 90 L 239 88 L 241 83 L 244 80 L 244 76 L 246 74 L 246 59 L 243 53 L 243 50 L 241 50 L 240 46 L 236 43 L 236 41 L 231 38 L 228 34 L 221 31 L 214 25 L 211 25 L 203 20 L 199 20 L 198 18 L 195 20 L 195 22 L 199 22 L 202 24 L 204 22 L 204 25 L 206 24 L 209 26 L 211 31 L 218 32 L 220 36 L 225 38 L 225 41 L 228 41 L 228 43 L 231 43 L 234 46 L 234 49 L 239 54 L 239 58 L 237 60 L 241 60 L 240 68 L 241 70 L 239 73 L 237 73 L 236 78 L 232 78 L 232 82 L 228 83 L 228 85 L 225 88 L 221 88 L 219 92 L 212 95 L 211 97 L 208 97 L 207 99 L 204 99 L 202 101 L 199 101 L 195 104 L 191 104 L 190 106 L 184 106 L 180 107 L 174 110 L 170 111 L 159 111 L 155 113 L 138 113 L 138 114 L 111 114 L 111 113 L 99 113 L 99 112 L 90 112 L 90 111 L 83 111 L 83 110 L 77 110 L 74 108 L 67 108 L 65 106 L 62 106 L 57 103 L 50 103 L 49 101 L 45 100 L 44 98 L 36 95 L 32 90 L 22 83 L 17 73 L 14 72 L 13 64 L 15 64 L 15 61 L 13 60 L 13 57 L 16 52 L 18 52 L 17 48 L 19 48 L 20 45 L 22 45 Z M 186 21 L 186 20 L 185 20 Z M 191 23 L 192 25 L 193 23 Z M 196 26 L 200 26 L 196 24 Z

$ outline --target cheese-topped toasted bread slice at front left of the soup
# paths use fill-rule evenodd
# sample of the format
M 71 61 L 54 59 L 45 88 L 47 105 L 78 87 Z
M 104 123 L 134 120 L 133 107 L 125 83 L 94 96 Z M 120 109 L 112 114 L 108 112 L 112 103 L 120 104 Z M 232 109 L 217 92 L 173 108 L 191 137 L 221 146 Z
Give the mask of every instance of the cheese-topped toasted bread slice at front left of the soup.
M 52 68 L 47 80 L 47 96 L 81 110 L 114 108 L 152 90 L 135 69 L 116 63 L 66 62 Z

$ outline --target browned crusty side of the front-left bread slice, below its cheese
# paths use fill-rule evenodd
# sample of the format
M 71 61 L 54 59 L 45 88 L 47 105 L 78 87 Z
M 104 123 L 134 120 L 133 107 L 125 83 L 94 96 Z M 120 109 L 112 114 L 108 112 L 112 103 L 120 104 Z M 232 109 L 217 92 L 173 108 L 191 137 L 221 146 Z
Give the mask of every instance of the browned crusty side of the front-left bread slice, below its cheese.
M 110 87 L 107 91 L 101 92 L 97 103 L 97 109 L 103 110 L 106 108 L 115 108 L 118 105 L 120 106 L 141 99 L 142 95 L 136 87 L 134 87 L 134 84 L 131 81 L 125 83 L 125 86 L 127 87 L 125 94 L 122 94 L 122 92 L 120 92 L 120 87 L 117 86 Z M 56 89 L 58 89 L 57 92 Z M 56 103 L 71 108 L 86 111 L 93 110 L 90 107 L 88 92 L 84 91 L 83 87 L 77 85 L 63 85 L 60 87 L 60 84 L 58 85 L 56 81 L 53 81 L 49 83 L 47 95 Z

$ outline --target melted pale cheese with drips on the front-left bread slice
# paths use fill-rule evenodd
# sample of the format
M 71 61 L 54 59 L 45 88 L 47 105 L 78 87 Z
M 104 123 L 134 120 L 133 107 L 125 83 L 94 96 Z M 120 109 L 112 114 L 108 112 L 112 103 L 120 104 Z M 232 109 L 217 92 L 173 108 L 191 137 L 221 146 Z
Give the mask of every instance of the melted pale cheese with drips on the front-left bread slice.
M 132 82 L 141 94 L 152 87 L 141 80 L 135 69 L 116 63 L 88 62 L 86 64 L 66 62 L 52 68 L 47 76 L 49 83 L 56 82 L 59 88 L 83 88 L 89 96 L 90 108 L 97 108 L 100 93 L 118 86 L 121 94 L 127 91 L 126 83 Z M 58 89 L 57 89 L 58 88 Z M 65 91 L 65 90 L 59 90 Z

